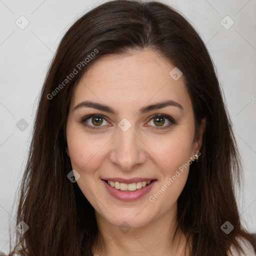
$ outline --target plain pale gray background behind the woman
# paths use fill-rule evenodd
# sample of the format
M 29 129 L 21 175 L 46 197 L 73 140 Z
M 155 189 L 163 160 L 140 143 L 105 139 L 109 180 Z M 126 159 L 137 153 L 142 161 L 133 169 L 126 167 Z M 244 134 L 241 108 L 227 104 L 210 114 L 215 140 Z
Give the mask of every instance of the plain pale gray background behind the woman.
M 76 18 L 100 2 L 103 1 L 0 0 L 2 251 L 6 252 L 8 248 L 8 223 L 14 220 L 17 201 L 14 195 L 24 169 L 38 94 L 46 69 L 67 28 Z M 244 189 L 238 196 L 239 209 L 248 230 L 256 232 L 256 1 L 163 2 L 176 7 L 194 25 L 216 65 L 243 159 Z M 29 21 L 24 29 L 19 27 L 25 24 L 21 15 Z M 226 18 L 227 15 L 231 19 Z M 234 24 L 229 27 L 232 20 Z M 19 26 L 15 22 L 19 22 Z M 21 118 L 27 122 L 28 127 L 20 126 L 23 122 Z

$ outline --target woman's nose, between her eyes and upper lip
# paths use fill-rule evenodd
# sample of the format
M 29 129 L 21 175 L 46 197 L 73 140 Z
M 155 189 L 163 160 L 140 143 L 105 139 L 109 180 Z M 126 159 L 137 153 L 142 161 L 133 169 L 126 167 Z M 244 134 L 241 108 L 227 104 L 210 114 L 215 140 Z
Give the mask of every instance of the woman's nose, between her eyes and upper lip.
M 146 148 L 139 135 L 136 135 L 134 125 L 126 131 L 118 127 L 109 159 L 123 171 L 133 170 L 146 161 Z

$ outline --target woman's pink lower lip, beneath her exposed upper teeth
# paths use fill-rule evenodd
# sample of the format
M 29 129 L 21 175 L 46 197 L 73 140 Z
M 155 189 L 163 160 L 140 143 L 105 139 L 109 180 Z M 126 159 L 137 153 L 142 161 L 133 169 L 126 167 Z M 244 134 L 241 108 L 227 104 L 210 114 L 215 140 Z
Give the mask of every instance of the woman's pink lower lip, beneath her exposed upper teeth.
M 106 190 L 111 194 L 113 197 L 119 200 L 123 201 L 133 201 L 137 200 L 146 193 L 149 192 L 149 190 L 152 188 L 153 184 L 156 182 L 156 180 L 152 180 L 148 185 L 141 187 L 140 189 L 136 189 L 135 191 L 122 191 L 120 189 L 116 189 L 112 186 L 110 186 L 105 180 L 102 179 L 102 182 L 104 183 Z

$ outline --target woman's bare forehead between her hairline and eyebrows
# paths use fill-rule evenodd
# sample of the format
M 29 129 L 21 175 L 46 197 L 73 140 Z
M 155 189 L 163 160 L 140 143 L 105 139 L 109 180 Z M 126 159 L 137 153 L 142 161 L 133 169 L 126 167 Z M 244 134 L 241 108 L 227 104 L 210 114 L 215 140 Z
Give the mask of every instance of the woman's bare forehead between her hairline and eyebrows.
M 169 74 L 174 67 L 152 50 L 103 56 L 81 77 L 71 105 L 83 100 L 107 101 L 117 108 L 168 99 L 190 103 L 183 77 L 175 80 Z

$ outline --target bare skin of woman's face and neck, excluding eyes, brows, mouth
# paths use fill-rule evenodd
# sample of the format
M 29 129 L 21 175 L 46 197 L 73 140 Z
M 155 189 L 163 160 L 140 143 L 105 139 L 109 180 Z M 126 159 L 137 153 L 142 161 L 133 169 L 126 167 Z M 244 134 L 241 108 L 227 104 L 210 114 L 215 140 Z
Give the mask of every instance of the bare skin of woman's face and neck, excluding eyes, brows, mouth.
M 80 175 L 77 184 L 95 209 L 99 236 L 106 244 L 100 248 L 94 242 L 92 251 L 99 256 L 181 255 L 182 231 L 172 238 L 177 199 L 189 168 L 180 172 L 154 202 L 148 199 L 199 151 L 205 127 L 203 120 L 195 133 L 191 100 L 183 76 L 174 80 L 169 75 L 173 67 L 149 49 L 104 56 L 87 69 L 72 95 L 66 126 L 67 151 L 72 168 Z M 183 109 L 166 106 L 138 112 L 141 107 L 169 99 Z M 111 106 L 117 114 L 92 107 L 73 110 L 84 100 Z M 105 116 L 99 129 L 87 128 L 80 122 L 89 114 Z M 170 122 L 163 118 L 162 126 L 167 128 L 153 129 L 159 127 L 152 118 L 154 114 L 169 115 L 176 124 L 167 127 Z M 118 127 L 123 118 L 131 123 L 125 132 Z M 89 118 L 85 122 L 96 126 L 91 121 Z M 102 177 L 149 177 L 157 181 L 143 197 L 122 201 L 107 192 Z M 118 228 L 123 221 L 130 226 L 126 233 Z

